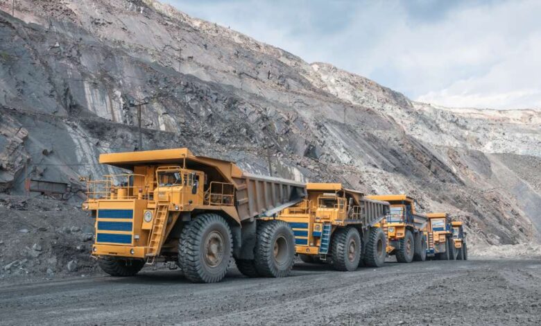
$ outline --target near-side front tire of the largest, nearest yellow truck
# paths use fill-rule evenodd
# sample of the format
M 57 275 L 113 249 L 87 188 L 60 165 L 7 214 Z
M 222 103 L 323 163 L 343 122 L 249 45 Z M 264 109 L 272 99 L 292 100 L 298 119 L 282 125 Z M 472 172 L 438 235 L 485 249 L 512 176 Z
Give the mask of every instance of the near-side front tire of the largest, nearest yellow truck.
M 184 227 L 178 241 L 179 265 L 188 280 L 214 283 L 223 279 L 232 256 L 231 229 L 218 214 L 200 214 Z

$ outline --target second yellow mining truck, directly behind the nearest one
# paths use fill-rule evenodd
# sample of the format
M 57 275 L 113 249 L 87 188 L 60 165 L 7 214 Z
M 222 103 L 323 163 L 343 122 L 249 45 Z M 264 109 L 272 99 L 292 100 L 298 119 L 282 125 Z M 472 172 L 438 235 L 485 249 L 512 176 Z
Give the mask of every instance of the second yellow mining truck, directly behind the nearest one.
M 309 183 L 307 194 L 277 216 L 293 228 L 302 261 L 327 262 L 338 271 L 384 264 L 385 234 L 374 225 L 387 214 L 388 203 L 367 199 L 340 183 Z

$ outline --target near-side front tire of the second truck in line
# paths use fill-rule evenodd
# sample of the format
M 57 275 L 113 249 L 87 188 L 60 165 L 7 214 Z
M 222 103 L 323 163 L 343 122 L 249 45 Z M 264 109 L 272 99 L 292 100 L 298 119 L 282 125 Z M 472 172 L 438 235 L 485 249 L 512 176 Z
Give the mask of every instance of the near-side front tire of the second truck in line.
M 336 271 L 355 271 L 361 260 L 361 235 L 356 228 L 339 228 L 332 234 L 332 263 Z

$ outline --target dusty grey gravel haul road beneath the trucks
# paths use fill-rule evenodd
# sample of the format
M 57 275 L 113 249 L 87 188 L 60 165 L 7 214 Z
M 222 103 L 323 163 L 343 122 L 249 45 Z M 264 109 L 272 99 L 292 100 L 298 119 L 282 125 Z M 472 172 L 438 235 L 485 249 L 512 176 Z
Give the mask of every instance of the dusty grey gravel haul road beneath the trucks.
M 232 268 L 0 286 L 2 325 L 541 325 L 541 261 L 387 263 L 352 273 L 297 264 L 284 279 Z

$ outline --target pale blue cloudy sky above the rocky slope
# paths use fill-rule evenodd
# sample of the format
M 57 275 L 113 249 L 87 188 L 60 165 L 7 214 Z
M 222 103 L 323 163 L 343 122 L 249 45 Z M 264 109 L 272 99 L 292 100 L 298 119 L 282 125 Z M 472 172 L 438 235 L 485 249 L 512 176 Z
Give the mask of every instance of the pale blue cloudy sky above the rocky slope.
M 541 108 L 540 0 L 162 0 L 418 101 Z

